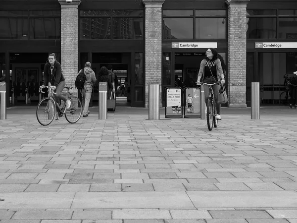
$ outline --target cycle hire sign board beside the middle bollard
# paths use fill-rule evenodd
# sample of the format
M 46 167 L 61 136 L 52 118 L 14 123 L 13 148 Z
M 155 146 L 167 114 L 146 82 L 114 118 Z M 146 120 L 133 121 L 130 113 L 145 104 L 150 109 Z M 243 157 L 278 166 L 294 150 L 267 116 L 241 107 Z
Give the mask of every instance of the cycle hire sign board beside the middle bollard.
M 166 91 L 165 118 L 182 118 L 182 88 L 168 87 Z

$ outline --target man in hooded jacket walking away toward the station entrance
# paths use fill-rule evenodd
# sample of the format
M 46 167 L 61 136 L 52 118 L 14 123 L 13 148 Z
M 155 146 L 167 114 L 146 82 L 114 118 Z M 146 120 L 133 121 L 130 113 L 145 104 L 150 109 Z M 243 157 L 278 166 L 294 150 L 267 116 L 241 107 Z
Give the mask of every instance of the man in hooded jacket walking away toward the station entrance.
M 80 73 L 82 70 L 80 70 L 78 73 Z M 84 105 L 84 111 L 83 111 L 83 117 L 88 117 L 90 114 L 89 104 L 92 97 L 93 92 L 93 85 L 96 84 L 96 75 L 95 72 L 91 69 L 91 63 L 86 62 L 84 73 L 86 74 L 86 80 L 84 83 L 84 89 L 82 90 L 82 98 L 83 98 L 83 105 Z

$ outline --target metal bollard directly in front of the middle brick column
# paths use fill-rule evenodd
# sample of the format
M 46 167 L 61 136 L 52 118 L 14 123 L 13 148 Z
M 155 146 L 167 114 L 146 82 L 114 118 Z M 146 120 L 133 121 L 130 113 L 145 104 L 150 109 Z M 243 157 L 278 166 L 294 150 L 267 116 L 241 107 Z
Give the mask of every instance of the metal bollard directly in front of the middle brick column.
M 148 87 L 148 119 L 160 119 L 160 86 L 159 84 L 150 84 Z

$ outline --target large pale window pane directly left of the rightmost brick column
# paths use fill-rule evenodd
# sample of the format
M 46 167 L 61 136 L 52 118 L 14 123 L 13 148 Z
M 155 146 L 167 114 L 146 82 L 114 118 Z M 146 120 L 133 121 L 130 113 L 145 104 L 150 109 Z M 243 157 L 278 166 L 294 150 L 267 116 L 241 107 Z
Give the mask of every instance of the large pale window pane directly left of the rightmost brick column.
M 196 18 L 196 39 L 226 39 L 225 18 Z

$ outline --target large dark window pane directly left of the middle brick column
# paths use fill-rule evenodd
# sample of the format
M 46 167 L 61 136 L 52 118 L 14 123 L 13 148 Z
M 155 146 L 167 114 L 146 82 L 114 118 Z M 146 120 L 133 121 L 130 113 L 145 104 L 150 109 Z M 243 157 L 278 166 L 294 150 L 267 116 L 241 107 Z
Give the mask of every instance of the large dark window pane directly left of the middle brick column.
M 143 39 L 143 18 L 113 18 L 113 39 Z

